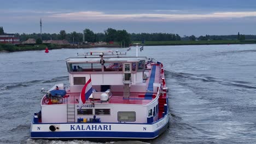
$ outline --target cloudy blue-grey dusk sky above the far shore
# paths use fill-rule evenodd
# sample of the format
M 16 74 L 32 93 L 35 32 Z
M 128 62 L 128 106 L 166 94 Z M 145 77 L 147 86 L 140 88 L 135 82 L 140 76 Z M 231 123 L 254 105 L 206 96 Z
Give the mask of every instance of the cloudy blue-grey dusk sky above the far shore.
M 256 34 L 255 0 L 0 1 L 5 33 L 82 32 L 89 28 L 183 35 Z

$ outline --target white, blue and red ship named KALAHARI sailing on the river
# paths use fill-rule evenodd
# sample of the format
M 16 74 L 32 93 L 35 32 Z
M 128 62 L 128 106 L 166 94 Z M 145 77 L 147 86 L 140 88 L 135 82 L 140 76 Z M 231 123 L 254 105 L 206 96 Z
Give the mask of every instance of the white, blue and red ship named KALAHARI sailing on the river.
M 169 123 L 164 65 L 126 52 L 66 59 L 69 84 L 42 88 L 32 139 L 155 139 Z

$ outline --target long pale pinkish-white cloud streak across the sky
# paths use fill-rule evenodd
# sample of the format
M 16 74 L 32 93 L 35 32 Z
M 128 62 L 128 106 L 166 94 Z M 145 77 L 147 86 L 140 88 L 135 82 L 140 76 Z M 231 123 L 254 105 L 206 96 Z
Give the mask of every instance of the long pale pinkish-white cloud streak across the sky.
M 73 13 L 51 14 L 48 17 L 73 21 L 187 21 L 254 16 L 256 16 L 256 11 L 217 12 L 208 14 L 106 14 L 101 11 L 78 11 Z

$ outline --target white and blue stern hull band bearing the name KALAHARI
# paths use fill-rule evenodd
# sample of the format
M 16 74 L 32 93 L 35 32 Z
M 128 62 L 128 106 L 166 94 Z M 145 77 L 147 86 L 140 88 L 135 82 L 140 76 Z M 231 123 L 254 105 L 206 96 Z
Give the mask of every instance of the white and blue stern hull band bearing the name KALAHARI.
M 32 123 L 32 139 L 154 139 L 168 128 L 169 117 L 150 124 Z M 54 126 L 54 131 L 50 127 Z M 53 128 L 53 127 L 52 127 Z M 52 129 L 53 130 L 53 129 Z

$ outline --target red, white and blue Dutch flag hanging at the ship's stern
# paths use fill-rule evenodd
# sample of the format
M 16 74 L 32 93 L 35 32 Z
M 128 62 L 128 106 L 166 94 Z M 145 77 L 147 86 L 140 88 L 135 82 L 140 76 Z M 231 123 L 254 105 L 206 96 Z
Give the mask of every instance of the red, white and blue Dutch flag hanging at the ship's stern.
M 83 104 L 86 100 L 89 99 L 90 95 L 92 94 L 92 86 L 91 86 L 91 78 L 88 82 L 85 83 L 81 93 L 80 93 L 80 100 L 79 100 L 79 108 L 81 109 Z

